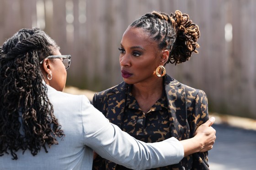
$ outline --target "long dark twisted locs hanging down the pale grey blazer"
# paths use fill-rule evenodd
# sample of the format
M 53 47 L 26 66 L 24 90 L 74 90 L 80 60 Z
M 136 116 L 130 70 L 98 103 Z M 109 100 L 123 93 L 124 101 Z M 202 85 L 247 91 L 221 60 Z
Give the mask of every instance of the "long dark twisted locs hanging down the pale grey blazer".
M 21 29 L 0 47 L 0 156 L 58 144 L 64 132 L 53 115 L 39 61 L 59 49 L 39 28 Z

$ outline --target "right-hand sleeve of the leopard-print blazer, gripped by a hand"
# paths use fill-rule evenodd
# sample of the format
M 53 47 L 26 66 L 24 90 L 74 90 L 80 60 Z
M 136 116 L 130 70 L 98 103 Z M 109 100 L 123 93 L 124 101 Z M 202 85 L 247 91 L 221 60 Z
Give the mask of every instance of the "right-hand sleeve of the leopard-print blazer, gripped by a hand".
M 191 118 L 191 135 L 195 135 L 198 126 L 205 123 L 209 119 L 208 101 L 206 94 L 199 90 L 195 98 L 195 107 Z M 198 152 L 193 154 L 193 170 L 209 170 L 208 152 Z

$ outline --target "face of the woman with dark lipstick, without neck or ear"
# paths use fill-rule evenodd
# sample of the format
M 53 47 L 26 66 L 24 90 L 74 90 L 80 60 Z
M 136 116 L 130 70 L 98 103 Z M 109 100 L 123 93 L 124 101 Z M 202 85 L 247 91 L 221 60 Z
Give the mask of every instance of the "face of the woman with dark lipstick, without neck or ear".
M 128 28 L 121 41 L 119 62 L 121 70 L 132 73 L 124 78 L 128 84 L 147 83 L 157 80 L 155 69 L 160 65 L 160 54 L 156 43 L 140 29 Z M 164 63 L 162 63 L 164 64 Z

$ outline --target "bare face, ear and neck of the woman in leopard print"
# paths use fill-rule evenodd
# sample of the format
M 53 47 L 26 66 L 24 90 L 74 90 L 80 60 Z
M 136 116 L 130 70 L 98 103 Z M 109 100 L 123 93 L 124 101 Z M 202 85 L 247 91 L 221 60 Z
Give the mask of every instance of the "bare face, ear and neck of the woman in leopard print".
M 147 113 L 160 97 L 163 79 L 155 74 L 158 66 L 163 66 L 169 56 L 168 50 L 160 51 L 157 44 L 139 28 L 128 27 L 121 41 L 119 62 L 121 72 L 129 72 L 124 82 L 133 84 L 133 95 L 140 108 Z

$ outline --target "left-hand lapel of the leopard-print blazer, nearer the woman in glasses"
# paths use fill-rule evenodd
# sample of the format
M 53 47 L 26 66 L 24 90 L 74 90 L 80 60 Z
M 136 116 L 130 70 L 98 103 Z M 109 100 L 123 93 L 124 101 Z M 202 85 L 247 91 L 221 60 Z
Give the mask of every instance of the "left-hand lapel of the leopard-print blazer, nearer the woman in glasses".
M 108 118 L 112 124 L 116 124 L 119 128 L 121 128 L 122 125 L 127 88 L 128 84 L 122 82 L 114 89 L 115 94 L 111 95 L 108 99 L 106 118 Z

